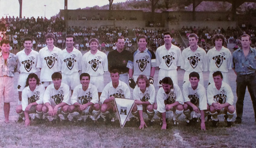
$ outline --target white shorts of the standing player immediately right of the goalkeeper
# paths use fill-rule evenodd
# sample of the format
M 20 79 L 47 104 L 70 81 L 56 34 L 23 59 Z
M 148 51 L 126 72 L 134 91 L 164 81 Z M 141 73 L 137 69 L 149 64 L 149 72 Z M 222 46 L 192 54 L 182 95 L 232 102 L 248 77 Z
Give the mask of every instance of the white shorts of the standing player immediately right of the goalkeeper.
M 158 73 L 158 81 L 157 81 L 158 86 L 162 86 L 162 79 L 165 77 L 170 77 L 172 79 L 173 84 L 178 85 L 177 69 L 165 70 L 163 68 L 160 68 Z

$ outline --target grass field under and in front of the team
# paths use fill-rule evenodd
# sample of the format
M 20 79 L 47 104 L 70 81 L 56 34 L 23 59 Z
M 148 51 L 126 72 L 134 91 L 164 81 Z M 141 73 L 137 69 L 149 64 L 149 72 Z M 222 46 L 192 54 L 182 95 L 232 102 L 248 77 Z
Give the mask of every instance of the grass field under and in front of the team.
M 182 76 L 178 80 L 181 89 L 183 73 L 184 71 L 178 71 L 178 75 Z M 157 76 L 158 70 L 154 77 L 155 82 Z M 204 86 L 207 86 L 208 76 L 208 72 L 204 73 Z M 106 85 L 110 81 L 109 73 L 105 73 L 104 77 Z M 236 75 L 233 71 L 229 71 L 229 80 L 235 105 Z M 156 83 L 154 85 L 157 92 L 158 87 Z M 14 97 L 17 100 L 17 92 Z M 139 130 L 139 126 L 129 122 L 124 128 L 120 128 L 118 121 L 110 124 L 32 123 L 26 128 L 24 123 L 16 122 L 16 106 L 17 102 L 11 103 L 9 124 L 3 122 L 3 104 L 0 106 L 0 147 L 2 148 L 256 148 L 256 122 L 248 91 L 244 99 L 242 124 L 234 124 L 233 127 L 226 128 L 224 117 L 220 115 L 218 128 L 212 128 L 211 123 L 206 122 L 207 131 L 200 130 L 200 123 L 186 126 L 183 114 L 179 118 L 180 124 L 173 126 L 172 122 L 168 122 L 166 131 L 161 131 L 156 115 L 155 124 L 144 130 Z

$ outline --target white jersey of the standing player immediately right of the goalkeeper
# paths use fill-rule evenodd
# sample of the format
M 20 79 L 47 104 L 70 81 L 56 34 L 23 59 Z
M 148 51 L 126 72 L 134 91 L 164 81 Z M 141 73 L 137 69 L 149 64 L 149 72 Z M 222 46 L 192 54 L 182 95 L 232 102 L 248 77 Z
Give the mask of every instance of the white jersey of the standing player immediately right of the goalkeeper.
M 180 48 L 173 45 L 169 50 L 166 49 L 165 45 L 157 48 L 156 51 L 156 62 L 159 68 L 165 70 L 177 69 L 180 66 L 181 51 Z

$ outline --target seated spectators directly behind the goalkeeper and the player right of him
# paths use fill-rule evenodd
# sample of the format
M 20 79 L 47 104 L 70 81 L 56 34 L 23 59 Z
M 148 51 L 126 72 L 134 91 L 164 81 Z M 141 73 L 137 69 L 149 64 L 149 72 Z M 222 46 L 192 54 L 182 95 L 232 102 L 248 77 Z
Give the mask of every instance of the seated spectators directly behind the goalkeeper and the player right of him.
M 164 45 L 164 40 L 163 40 L 163 33 L 166 31 L 169 31 L 167 29 L 160 29 L 158 28 L 140 28 L 140 27 L 136 27 L 133 29 L 135 36 L 133 38 L 133 41 L 136 41 L 136 38 L 139 37 L 139 35 L 144 34 L 148 37 L 148 47 L 151 48 L 151 50 L 155 51 L 158 47 Z M 177 31 L 174 30 L 174 28 L 172 28 L 172 30 L 170 31 L 172 36 L 173 36 L 173 40 L 172 40 L 172 44 L 180 47 L 180 44 L 177 41 L 178 38 L 178 33 Z

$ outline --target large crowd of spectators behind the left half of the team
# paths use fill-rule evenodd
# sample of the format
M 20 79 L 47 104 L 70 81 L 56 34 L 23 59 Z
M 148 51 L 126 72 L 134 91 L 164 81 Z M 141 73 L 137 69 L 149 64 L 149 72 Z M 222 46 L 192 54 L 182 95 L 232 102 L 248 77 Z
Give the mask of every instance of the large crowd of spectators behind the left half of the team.
M 55 34 L 55 46 L 64 49 L 65 48 L 65 36 L 66 27 L 63 19 L 58 17 L 46 17 L 37 18 L 34 17 L 2 17 L 0 19 L 0 41 L 3 38 L 7 38 L 11 41 L 11 46 L 17 51 L 22 50 L 23 39 L 26 37 L 32 37 L 33 49 L 39 50 L 46 45 L 45 34 Z M 67 34 L 73 34 L 77 40 L 75 47 L 80 50 L 89 49 L 88 41 L 91 38 L 97 38 L 100 41 L 100 50 L 112 50 L 115 49 L 116 37 L 125 37 L 125 48 L 131 49 L 132 43 L 128 39 L 128 28 L 121 27 L 81 27 L 72 26 L 67 28 Z

